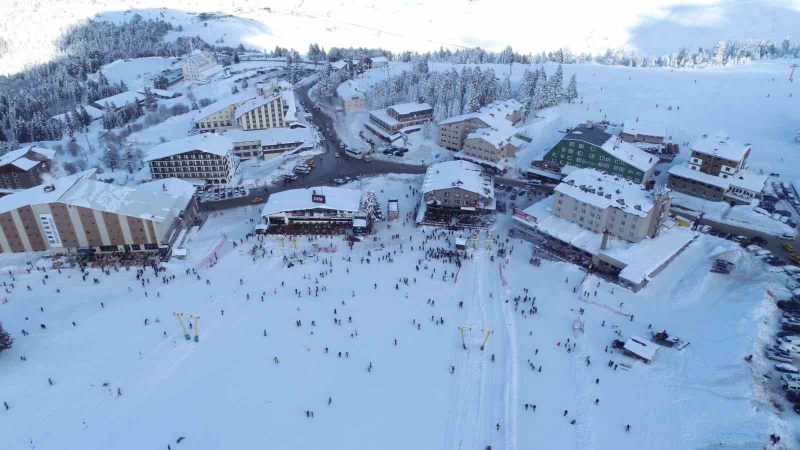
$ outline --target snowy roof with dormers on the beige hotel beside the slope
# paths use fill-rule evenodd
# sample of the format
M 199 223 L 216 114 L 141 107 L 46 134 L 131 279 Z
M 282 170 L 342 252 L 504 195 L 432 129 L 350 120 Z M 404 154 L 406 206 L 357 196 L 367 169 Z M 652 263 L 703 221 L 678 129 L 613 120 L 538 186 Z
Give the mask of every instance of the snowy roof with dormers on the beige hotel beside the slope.
M 555 191 L 603 210 L 615 207 L 628 214 L 646 217 L 653 208 L 650 191 L 642 189 L 641 184 L 614 178 L 614 175 L 606 175 L 594 169 L 578 169 L 567 175 L 555 187 Z

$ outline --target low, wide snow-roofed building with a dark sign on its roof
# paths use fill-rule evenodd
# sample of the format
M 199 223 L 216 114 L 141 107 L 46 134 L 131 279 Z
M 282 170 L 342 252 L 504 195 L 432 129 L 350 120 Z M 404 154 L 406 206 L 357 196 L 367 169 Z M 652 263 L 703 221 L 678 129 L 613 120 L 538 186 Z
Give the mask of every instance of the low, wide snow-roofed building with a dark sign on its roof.
M 346 187 L 310 187 L 276 192 L 261 215 L 270 228 L 294 224 L 349 227 L 361 207 L 361 191 Z

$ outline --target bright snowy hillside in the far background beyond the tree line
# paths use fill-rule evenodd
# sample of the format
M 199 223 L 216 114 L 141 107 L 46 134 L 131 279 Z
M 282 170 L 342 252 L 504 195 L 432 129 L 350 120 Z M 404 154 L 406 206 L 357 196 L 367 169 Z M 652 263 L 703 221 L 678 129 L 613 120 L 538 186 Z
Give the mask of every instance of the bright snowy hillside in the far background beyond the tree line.
M 758 2 L 701 2 L 686 6 L 678 0 L 616 2 L 603 8 L 586 2 L 514 2 L 498 5 L 488 0 L 469 2 L 376 3 L 363 0 L 323 2 L 307 0 L 293 5 L 265 5 L 256 0 L 232 4 L 207 0 L 14 0 L 0 18 L 0 35 L 14 45 L 0 55 L 2 71 L 13 73 L 26 63 L 42 62 L 53 53 L 51 42 L 66 27 L 84 18 L 130 19 L 162 17 L 184 27 L 183 35 L 200 35 L 208 42 L 223 38 L 256 48 L 294 47 L 303 52 L 311 42 L 330 46 L 382 46 L 390 50 L 435 50 L 439 46 L 481 46 L 502 50 L 514 46 L 522 53 L 539 53 L 569 46 L 576 53 L 597 54 L 608 48 L 667 54 L 686 46 L 713 46 L 719 40 L 780 40 L 800 22 L 798 0 Z M 133 12 L 124 14 L 124 11 Z M 570 11 L 568 25 L 561 17 Z M 200 23 L 195 14 L 220 12 L 233 17 Z M 584 14 L 586 13 L 586 14 Z M 413 24 L 413 25 L 412 25 Z M 569 32 L 564 32 L 565 27 Z M 36 33 L 30 33 L 30 30 Z M 475 32 L 478 30 L 478 32 Z M 174 34 L 177 36 L 180 33 Z M 24 41 L 18 38 L 25 36 Z M 173 37 L 174 37 L 173 36 Z

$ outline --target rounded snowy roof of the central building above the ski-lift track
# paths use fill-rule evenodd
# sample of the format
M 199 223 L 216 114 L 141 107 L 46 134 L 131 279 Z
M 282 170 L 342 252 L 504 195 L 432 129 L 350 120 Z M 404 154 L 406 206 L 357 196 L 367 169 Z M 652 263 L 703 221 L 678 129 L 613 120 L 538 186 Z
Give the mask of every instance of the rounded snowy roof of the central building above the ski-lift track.
M 462 159 L 434 164 L 425 172 L 422 194 L 450 187 L 460 187 L 466 191 L 494 199 L 491 175 L 483 171 L 483 167 L 478 164 Z

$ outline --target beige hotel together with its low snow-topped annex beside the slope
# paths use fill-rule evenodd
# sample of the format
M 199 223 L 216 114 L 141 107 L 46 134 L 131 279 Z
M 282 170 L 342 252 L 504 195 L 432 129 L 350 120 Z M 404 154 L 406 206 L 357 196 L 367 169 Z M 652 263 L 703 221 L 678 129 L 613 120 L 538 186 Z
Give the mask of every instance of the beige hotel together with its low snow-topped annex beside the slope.
M 637 290 L 698 235 L 668 218 L 670 191 L 580 169 L 552 203 L 514 209 L 514 235 Z

